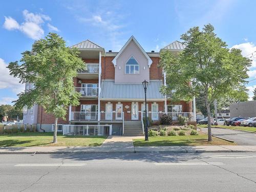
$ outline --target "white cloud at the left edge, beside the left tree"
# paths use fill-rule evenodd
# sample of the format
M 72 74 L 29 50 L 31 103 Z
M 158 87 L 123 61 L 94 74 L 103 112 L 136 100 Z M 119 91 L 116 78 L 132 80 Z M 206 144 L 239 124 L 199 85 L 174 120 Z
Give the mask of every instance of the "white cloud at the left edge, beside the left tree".
M 11 89 L 18 94 L 24 90 L 24 84 L 19 83 L 19 79 L 10 75 L 10 71 L 6 68 L 8 65 L 4 59 L 0 58 L 0 89 Z

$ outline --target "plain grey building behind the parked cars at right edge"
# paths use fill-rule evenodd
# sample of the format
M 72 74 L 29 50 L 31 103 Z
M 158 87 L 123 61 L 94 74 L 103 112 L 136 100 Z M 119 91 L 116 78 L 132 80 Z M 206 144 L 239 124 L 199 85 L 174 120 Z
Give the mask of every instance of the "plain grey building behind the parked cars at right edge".
M 256 117 L 256 101 L 232 103 L 229 105 L 230 118 Z

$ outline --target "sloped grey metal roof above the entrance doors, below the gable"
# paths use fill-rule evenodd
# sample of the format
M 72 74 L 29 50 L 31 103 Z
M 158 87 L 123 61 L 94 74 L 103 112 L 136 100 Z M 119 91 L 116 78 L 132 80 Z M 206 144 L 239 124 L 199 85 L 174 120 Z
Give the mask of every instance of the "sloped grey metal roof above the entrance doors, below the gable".
M 161 86 L 161 81 L 150 81 L 146 92 L 147 98 L 164 99 L 164 96 L 159 92 Z M 109 80 L 101 82 L 100 98 L 144 99 L 144 96 L 142 84 L 118 84 Z

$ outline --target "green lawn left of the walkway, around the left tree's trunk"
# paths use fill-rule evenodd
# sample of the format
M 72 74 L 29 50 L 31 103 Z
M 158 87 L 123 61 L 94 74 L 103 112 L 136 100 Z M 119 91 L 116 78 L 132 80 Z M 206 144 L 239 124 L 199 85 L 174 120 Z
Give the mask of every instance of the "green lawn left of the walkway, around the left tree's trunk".
M 0 147 L 24 146 L 99 146 L 108 136 L 63 136 L 58 134 L 58 143 L 53 144 L 53 133 L 25 132 L 0 135 Z

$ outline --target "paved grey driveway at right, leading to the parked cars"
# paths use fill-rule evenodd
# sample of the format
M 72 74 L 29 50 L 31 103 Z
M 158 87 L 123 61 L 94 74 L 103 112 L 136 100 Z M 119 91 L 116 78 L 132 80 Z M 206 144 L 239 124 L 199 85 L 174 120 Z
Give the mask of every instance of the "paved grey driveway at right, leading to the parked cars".
M 207 128 L 201 128 L 201 130 L 207 133 Z M 256 145 L 256 134 L 254 133 L 211 128 L 211 134 L 225 139 L 233 140 L 238 145 Z

